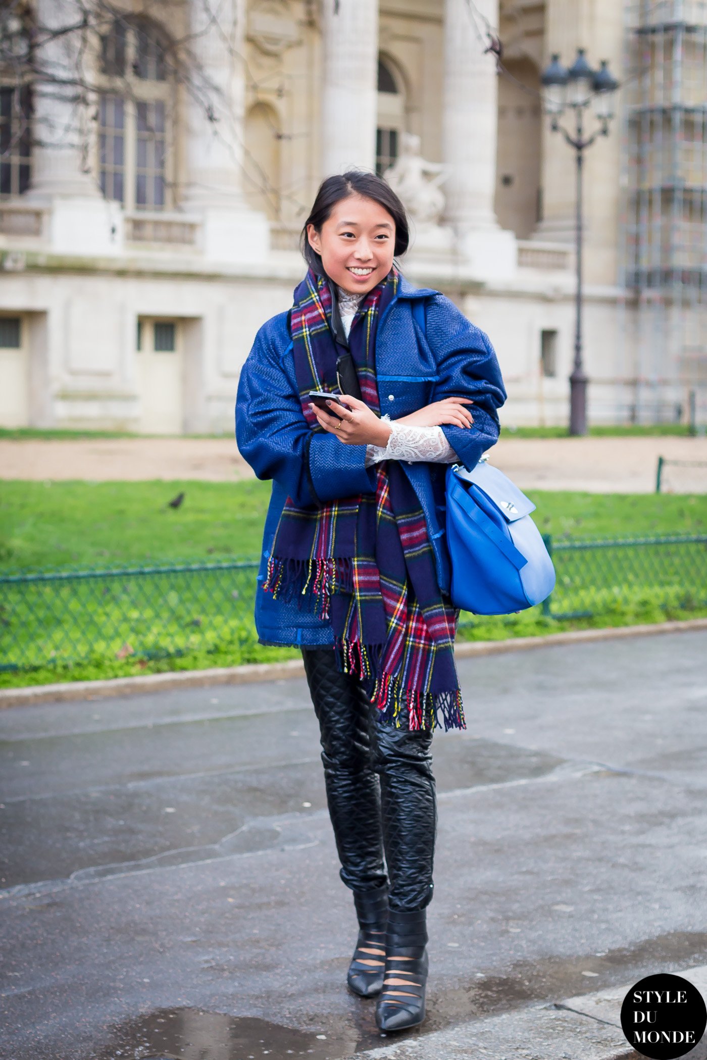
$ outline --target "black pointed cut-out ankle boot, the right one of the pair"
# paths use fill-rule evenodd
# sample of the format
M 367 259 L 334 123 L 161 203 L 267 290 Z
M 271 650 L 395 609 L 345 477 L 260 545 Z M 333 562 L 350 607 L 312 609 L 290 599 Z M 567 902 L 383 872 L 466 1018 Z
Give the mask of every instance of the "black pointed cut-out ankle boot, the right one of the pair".
M 427 911 L 390 909 L 386 932 L 386 972 L 375 1008 L 381 1030 L 405 1030 L 425 1019 Z

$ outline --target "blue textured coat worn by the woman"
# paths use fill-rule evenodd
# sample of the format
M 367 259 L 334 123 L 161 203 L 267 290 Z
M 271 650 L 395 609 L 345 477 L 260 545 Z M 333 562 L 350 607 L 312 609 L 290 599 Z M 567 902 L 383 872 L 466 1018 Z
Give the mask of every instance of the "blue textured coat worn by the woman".
M 413 319 L 414 299 L 424 300 L 424 333 Z M 496 409 L 503 404 L 506 391 L 496 354 L 487 335 L 439 292 L 412 287 L 401 278 L 397 296 L 378 321 L 375 365 L 381 412 L 388 412 L 392 420 L 442 398 L 474 401 L 473 427 L 442 428 L 466 467 L 473 467 L 498 438 Z M 235 435 L 242 455 L 259 478 L 272 479 L 255 593 L 255 628 L 261 641 L 270 644 L 333 642 L 329 620 L 300 611 L 294 602 L 273 599 L 262 589 L 286 498 L 291 497 L 296 505 L 317 506 L 375 492 L 375 466 L 366 467 L 365 445 L 346 445 L 335 435 L 317 431 L 305 464 L 303 453 L 310 431 L 295 379 L 287 314 L 279 313 L 255 336 L 241 373 L 235 406 Z M 449 556 L 444 542 L 446 465 L 406 461 L 403 467 L 425 513 L 440 588 L 448 593 Z

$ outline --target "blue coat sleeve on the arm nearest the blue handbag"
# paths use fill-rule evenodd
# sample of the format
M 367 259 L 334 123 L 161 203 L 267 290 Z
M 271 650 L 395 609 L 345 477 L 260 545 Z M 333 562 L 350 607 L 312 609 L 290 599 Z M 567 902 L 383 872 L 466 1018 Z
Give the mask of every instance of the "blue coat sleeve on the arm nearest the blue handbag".
M 470 471 L 498 439 L 497 409 L 506 389 L 489 336 L 476 328 L 444 295 L 427 304 L 427 342 L 437 363 L 431 401 L 471 398 L 472 427 L 442 424 L 449 445 Z

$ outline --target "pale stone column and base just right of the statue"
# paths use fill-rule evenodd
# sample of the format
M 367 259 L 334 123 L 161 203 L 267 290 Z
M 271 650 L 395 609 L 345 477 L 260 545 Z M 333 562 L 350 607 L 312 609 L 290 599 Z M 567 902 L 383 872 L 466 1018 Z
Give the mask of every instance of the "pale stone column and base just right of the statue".
M 498 0 L 476 0 L 491 25 L 498 25 Z M 462 255 L 487 277 L 515 267 L 515 236 L 499 228 L 494 213 L 496 187 L 497 74 L 481 19 L 466 0 L 444 3 L 443 156 L 446 222 Z

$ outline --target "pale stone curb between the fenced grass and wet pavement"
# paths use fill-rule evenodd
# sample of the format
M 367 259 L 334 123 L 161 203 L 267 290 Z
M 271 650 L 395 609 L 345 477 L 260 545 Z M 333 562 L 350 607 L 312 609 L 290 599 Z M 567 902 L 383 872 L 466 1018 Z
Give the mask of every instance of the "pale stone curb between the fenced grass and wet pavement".
M 570 630 L 564 633 L 551 633 L 545 637 L 514 637 L 511 640 L 469 640 L 455 646 L 455 657 L 505 655 L 534 648 L 619 640 L 624 637 L 650 637 L 664 633 L 688 633 L 695 630 L 707 630 L 707 618 L 656 622 L 652 625 L 619 625 L 605 630 Z M 244 666 L 214 667 L 211 670 L 182 670 L 171 673 L 148 673 L 137 677 L 110 677 L 107 681 L 67 681 L 55 685 L 0 689 L 0 708 L 24 704 L 63 703 L 69 700 L 103 700 L 182 688 L 208 688 L 214 685 L 248 685 L 303 676 L 304 666 L 300 659 L 288 659 L 284 662 L 248 662 Z

